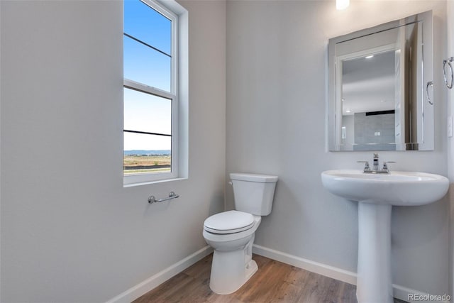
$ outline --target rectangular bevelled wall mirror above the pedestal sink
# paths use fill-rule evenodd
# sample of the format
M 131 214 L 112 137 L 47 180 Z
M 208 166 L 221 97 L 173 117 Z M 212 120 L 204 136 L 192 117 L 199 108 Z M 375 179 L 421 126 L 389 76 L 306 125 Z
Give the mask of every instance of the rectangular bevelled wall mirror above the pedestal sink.
M 328 148 L 433 150 L 433 15 L 328 42 Z

